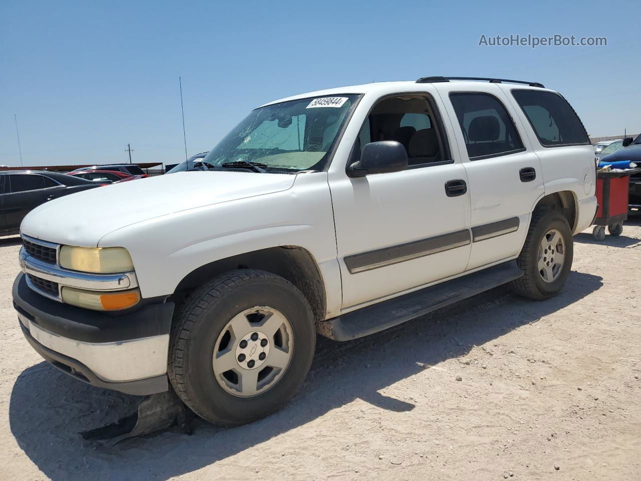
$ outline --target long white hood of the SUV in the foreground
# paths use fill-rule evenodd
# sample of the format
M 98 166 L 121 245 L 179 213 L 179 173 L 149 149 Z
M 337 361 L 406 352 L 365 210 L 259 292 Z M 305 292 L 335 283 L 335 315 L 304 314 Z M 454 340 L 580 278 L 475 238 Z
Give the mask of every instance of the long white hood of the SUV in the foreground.
M 106 234 L 161 215 L 290 189 L 292 174 L 198 171 L 78 192 L 35 208 L 21 232 L 44 241 L 97 246 Z

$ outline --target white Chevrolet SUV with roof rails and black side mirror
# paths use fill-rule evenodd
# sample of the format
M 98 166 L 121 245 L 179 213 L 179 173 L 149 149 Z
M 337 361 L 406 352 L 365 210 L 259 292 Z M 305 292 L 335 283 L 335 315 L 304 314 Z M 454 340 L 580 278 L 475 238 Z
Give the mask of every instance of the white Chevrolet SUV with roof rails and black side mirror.
M 347 341 L 511 282 L 562 289 L 594 150 L 538 83 L 421 78 L 253 110 L 185 171 L 56 199 L 21 228 L 13 300 L 54 366 L 209 421 L 282 407 Z

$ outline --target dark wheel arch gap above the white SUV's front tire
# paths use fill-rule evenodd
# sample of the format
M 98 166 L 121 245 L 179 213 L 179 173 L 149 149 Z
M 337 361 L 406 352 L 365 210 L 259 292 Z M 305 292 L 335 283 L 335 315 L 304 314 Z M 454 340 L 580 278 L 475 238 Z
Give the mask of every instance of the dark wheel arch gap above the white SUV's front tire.
M 319 266 L 310 251 L 300 246 L 278 246 L 249 251 L 209 262 L 188 273 L 171 298 L 177 304 L 208 280 L 236 269 L 258 269 L 285 278 L 310 303 L 316 322 L 325 318 L 326 290 Z

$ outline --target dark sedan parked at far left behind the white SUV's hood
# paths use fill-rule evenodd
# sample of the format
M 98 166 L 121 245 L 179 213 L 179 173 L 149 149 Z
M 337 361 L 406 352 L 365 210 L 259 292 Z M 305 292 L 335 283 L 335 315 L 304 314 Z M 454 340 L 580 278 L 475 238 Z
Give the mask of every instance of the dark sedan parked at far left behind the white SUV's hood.
M 40 204 L 101 185 L 57 172 L 0 172 L 0 235 L 17 234 L 24 216 Z

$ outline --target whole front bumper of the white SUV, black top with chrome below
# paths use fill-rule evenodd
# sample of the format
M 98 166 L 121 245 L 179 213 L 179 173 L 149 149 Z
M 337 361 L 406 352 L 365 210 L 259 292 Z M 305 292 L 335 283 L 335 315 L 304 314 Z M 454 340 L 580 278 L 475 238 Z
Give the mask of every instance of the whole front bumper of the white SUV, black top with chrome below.
M 127 392 L 167 391 L 171 302 L 147 303 L 120 316 L 65 305 L 29 289 L 20 274 L 13 306 L 29 344 L 65 373 Z

